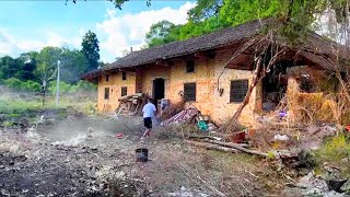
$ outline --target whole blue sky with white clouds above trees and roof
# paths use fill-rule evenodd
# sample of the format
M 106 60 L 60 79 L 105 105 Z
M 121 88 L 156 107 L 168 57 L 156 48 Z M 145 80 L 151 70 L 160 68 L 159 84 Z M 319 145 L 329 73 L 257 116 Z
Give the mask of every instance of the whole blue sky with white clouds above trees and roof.
M 83 35 L 91 30 L 100 40 L 100 56 L 113 62 L 124 50 L 140 49 L 150 26 L 167 20 L 187 21 L 194 0 L 131 0 L 116 9 L 106 0 L 0 1 L 0 57 L 40 50 L 45 46 L 81 49 Z

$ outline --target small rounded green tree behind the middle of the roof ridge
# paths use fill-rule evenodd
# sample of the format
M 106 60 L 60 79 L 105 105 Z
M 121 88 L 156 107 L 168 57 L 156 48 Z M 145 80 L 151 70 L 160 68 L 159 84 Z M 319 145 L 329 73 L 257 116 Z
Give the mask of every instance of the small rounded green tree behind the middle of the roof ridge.
M 150 32 L 145 34 L 147 47 L 154 47 L 178 40 L 179 35 L 176 34 L 177 26 L 166 20 L 153 24 Z

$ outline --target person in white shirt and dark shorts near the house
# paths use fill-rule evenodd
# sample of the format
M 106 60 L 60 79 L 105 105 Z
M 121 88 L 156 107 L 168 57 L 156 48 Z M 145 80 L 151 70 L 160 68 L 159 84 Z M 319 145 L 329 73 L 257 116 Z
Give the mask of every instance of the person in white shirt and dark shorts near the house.
M 141 137 L 141 141 L 143 141 L 145 137 L 150 136 L 150 132 L 152 130 L 152 118 L 154 117 L 154 115 L 156 115 L 156 108 L 152 103 L 152 99 L 149 99 L 148 103 L 143 106 L 142 114 L 145 131 Z

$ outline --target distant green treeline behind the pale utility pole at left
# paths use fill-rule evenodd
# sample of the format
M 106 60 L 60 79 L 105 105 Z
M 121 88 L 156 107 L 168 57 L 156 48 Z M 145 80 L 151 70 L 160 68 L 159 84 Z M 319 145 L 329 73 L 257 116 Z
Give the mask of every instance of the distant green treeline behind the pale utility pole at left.
M 77 49 L 45 47 L 40 51 L 0 58 L 0 83 L 11 89 L 40 92 L 43 82 L 48 91 L 56 91 L 57 65 L 60 61 L 60 91 L 95 89 L 94 84 L 80 81 L 81 74 L 92 70 L 85 56 Z M 48 80 L 50 77 L 51 80 Z

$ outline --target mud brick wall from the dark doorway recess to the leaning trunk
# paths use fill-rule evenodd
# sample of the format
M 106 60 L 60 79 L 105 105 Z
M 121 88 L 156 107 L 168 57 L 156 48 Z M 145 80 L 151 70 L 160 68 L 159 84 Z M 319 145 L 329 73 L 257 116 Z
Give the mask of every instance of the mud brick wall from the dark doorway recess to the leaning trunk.
M 156 78 L 165 80 L 165 99 L 171 103 L 180 100 L 178 93 L 184 91 L 185 83 L 196 83 L 196 102 L 187 102 L 185 108 L 197 107 L 203 115 L 209 115 L 214 123 L 222 124 L 230 118 L 241 103 L 230 103 L 230 88 L 232 80 L 247 79 L 252 82 L 253 72 L 226 69 L 220 78 L 218 92 L 218 78 L 231 58 L 233 51 L 220 53 L 214 59 L 196 59 L 195 72 L 186 72 L 186 60 L 176 60 L 171 67 L 148 66 L 143 70 L 142 91 L 152 96 L 152 81 Z M 243 111 L 241 121 L 246 125 L 254 123 L 254 109 L 260 102 L 256 100 L 256 90 L 253 91 L 250 102 Z

